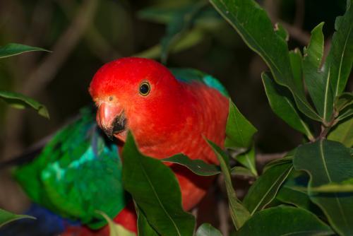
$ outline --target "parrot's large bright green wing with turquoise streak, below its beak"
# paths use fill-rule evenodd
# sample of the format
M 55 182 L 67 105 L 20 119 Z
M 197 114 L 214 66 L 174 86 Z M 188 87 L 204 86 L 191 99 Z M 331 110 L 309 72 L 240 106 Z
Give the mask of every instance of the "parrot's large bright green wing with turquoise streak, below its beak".
M 96 229 L 106 221 L 95 211 L 114 218 L 127 199 L 117 146 L 97 128 L 95 111 L 80 113 L 32 163 L 18 167 L 15 177 L 36 203 Z

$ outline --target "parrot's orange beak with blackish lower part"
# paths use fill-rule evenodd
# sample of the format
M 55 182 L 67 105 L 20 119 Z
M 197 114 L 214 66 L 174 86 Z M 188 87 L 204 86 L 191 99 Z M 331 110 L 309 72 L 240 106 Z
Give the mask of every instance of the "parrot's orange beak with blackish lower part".
M 103 102 L 97 111 L 97 124 L 110 139 L 122 139 L 119 134 L 126 131 L 126 117 L 119 105 Z

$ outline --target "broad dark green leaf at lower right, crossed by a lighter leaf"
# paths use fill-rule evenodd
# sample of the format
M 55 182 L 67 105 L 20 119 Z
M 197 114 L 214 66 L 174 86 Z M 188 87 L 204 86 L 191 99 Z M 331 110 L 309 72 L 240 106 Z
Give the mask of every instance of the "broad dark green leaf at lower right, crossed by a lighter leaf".
M 316 193 L 312 188 L 353 178 L 353 159 L 341 143 L 320 140 L 304 144 L 294 154 L 294 167 L 310 176 L 308 193 L 340 235 L 353 234 L 353 196 L 340 193 Z

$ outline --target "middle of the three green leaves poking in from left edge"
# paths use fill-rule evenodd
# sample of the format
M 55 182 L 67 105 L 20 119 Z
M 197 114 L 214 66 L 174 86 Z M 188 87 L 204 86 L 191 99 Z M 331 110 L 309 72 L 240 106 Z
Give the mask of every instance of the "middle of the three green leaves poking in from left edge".
M 24 109 L 25 107 L 32 107 L 42 117 L 49 119 L 48 110 L 46 107 L 44 107 L 44 105 L 33 100 L 32 98 L 28 98 L 23 94 L 0 90 L 0 99 L 4 100 L 12 107 L 16 107 L 18 109 Z

